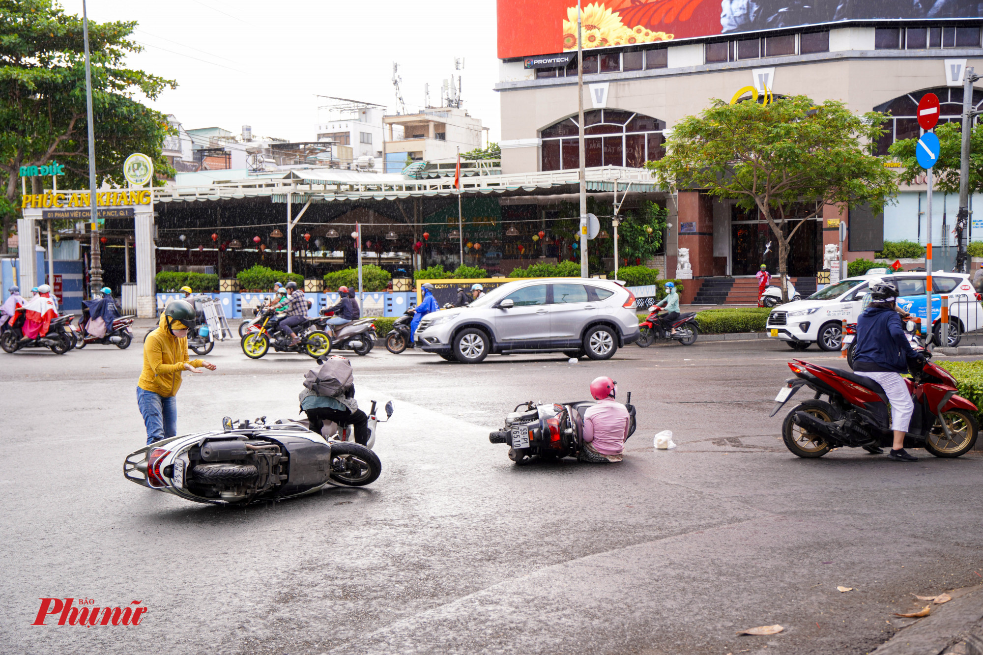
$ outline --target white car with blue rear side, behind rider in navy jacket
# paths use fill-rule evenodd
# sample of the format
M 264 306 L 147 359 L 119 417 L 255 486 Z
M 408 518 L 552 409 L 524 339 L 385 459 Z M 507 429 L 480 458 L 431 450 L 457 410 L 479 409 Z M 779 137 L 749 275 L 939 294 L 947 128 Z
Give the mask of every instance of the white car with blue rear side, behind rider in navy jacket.
M 890 275 L 858 275 L 820 289 L 808 298 L 790 302 L 768 315 L 768 335 L 785 341 L 795 350 L 805 350 L 817 343 L 823 350 L 839 350 L 842 324 L 856 323 L 864 294 L 871 283 L 891 278 L 899 292 L 897 305 L 910 314 L 925 318 L 925 273 L 902 272 Z M 939 315 L 942 295 L 949 296 L 949 343 L 959 342 L 962 332 L 981 327 L 983 308 L 980 294 L 973 288 L 969 275 L 938 271 L 932 273 L 932 325 L 939 338 Z M 938 342 L 938 340 L 936 341 Z

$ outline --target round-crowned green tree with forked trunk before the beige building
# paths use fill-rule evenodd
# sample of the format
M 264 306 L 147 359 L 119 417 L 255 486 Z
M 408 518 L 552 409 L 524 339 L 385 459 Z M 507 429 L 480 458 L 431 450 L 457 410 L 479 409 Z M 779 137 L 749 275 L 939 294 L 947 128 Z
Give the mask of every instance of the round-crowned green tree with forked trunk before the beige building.
M 873 154 L 884 114 L 851 113 L 844 103 L 804 95 L 768 104 L 715 100 L 677 123 L 667 153 L 646 164 L 666 187 L 706 190 L 757 208 L 779 244 L 782 299 L 789 244 L 827 204 L 881 207 L 897 192 L 895 174 Z M 796 222 L 797 224 L 792 224 Z

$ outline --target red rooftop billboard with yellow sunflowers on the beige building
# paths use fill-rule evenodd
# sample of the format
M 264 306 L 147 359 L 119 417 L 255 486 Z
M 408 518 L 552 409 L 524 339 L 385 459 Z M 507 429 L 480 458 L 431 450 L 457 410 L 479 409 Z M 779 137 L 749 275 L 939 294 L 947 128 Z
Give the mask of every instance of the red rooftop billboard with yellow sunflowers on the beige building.
M 582 0 L 583 46 L 618 47 L 850 21 L 958 20 L 979 16 L 977 0 Z M 498 58 L 577 48 L 571 0 L 498 0 Z

